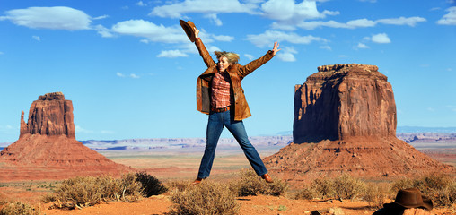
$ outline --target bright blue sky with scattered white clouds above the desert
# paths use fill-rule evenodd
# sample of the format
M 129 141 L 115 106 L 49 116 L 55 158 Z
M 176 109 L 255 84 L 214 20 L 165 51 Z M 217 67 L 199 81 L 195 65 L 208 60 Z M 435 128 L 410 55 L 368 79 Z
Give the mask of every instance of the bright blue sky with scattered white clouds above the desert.
M 78 140 L 205 137 L 206 68 L 180 19 L 241 64 L 280 43 L 242 82 L 250 136 L 292 131 L 294 85 L 325 64 L 377 65 L 399 126 L 456 126 L 454 0 L 0 0 L 0 142 L 54 91 L 73 101 Z

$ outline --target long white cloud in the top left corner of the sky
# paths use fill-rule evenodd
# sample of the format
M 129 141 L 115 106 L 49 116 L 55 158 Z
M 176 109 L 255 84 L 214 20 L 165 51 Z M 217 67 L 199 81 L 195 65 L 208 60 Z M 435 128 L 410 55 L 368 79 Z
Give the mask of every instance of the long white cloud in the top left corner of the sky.
M 29 7 L 6 12 L 1 20 L 32 29 L 90 30 L 91 17 L 70 7 Z

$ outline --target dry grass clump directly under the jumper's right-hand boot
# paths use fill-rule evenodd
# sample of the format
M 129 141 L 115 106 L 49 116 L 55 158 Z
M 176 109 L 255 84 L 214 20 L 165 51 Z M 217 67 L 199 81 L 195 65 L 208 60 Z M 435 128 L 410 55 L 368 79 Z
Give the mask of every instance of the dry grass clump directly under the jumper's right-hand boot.
M 287 189 L 283 181 L 274 180 L 273 183 L 268 184 L 251 169 L 241 170 L 240 174 L 240 179 L 230 185 L 230 189 L 238 196 L 259 194 L 279 196 Z

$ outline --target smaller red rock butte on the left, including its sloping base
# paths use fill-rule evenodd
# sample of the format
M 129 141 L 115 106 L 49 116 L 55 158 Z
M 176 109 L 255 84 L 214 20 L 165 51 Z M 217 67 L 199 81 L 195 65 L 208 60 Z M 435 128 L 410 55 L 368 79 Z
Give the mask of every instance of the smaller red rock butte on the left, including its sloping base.
M 0 181 L 119 176 L 132 171 L 75 139 L 73 103 L 61 92 L 33 101 L 19 140 L 0 152 Z

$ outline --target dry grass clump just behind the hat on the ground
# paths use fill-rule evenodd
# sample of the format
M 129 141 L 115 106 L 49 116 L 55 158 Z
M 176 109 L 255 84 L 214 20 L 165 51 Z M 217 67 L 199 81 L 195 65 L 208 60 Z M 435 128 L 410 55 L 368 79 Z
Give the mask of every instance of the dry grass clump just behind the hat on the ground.
M 451 206 L 456 203 L 456 179 L 443 174 L 431 174 L 416 179 L 404 178 L 396 181 L 392 192 L 399 189 L 417 188 L 426 197 L 430 198 L 434 206 Z

